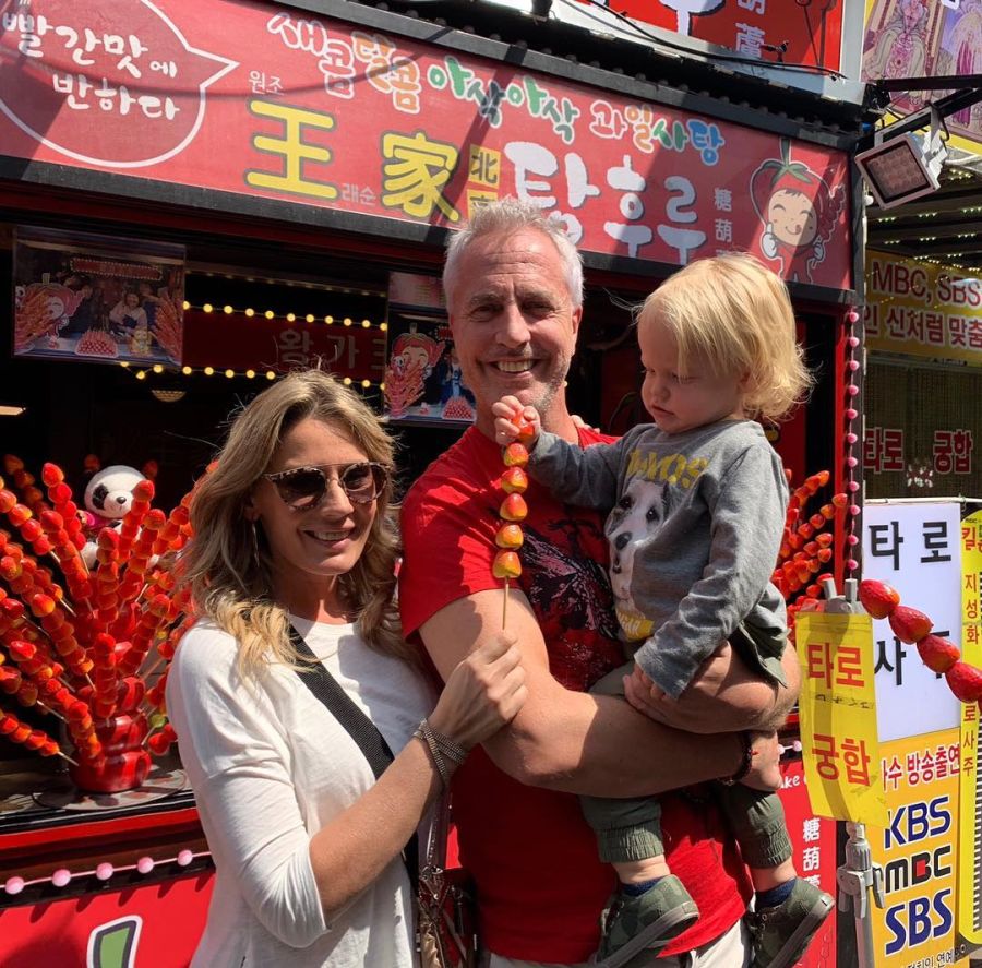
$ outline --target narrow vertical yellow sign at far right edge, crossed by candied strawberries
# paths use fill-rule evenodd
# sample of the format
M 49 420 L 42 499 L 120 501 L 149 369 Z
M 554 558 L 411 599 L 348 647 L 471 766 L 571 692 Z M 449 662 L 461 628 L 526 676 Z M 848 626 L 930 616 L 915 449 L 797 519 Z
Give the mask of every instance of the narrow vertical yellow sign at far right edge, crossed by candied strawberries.
M 982 667 L 982 511 L 961 522 L 961 658 Z M 958 931 L 982 944 L 982 780 L 978 768 L 979 706 L 962 703 L 958 800 Z

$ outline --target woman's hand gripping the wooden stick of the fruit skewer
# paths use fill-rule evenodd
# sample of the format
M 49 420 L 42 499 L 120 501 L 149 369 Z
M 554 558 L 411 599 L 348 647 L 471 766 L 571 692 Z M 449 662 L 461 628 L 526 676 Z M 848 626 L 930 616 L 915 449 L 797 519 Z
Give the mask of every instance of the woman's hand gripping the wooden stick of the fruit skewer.
M 457 665 L 429 717 L 433 729 L 470 750 L 514 719 L 528 697 L 516 641 L 502 630 Z

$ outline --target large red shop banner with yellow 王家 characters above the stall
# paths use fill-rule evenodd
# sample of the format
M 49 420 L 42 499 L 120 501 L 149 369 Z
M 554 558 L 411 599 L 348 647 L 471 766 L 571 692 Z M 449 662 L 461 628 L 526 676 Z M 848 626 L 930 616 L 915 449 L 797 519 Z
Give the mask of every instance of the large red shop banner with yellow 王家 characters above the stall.
M 851 288 L 845 152 L 266 4 L 0 10 L 17 158 L 450 227 L 518 195 L 585 251 Z

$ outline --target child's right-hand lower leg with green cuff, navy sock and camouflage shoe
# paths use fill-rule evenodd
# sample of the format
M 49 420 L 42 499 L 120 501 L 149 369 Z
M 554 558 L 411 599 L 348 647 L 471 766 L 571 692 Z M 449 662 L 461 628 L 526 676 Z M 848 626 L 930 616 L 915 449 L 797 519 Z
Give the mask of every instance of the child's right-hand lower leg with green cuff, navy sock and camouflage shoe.
M 756 891 L 754 911 L 746 916 L 754 936 L 752 968 L 790 968 L 831 913 L 835 900 L 797 875 L 777 793 L 740 784 L 720 789 Z

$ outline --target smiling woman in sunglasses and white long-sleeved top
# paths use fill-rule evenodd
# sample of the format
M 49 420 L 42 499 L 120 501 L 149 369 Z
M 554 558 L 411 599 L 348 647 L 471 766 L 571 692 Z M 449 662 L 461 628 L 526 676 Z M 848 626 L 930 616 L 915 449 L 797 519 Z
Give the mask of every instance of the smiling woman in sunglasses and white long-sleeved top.
M 414 738 L 432 700 L 393 601 L 392 468 L 375 416 L 311 371 L 239 415 L 194 492 L 181 581 L 202 619 L 167 684 L 217 869 L 194 965 L 415 964 L 400 851 L 456 764 Z M 378 782 L 298 676 L 290 623 L 394 751 Z M 429 729 L 469 750 L 518 710 L 523 678 L 502 633 Z

